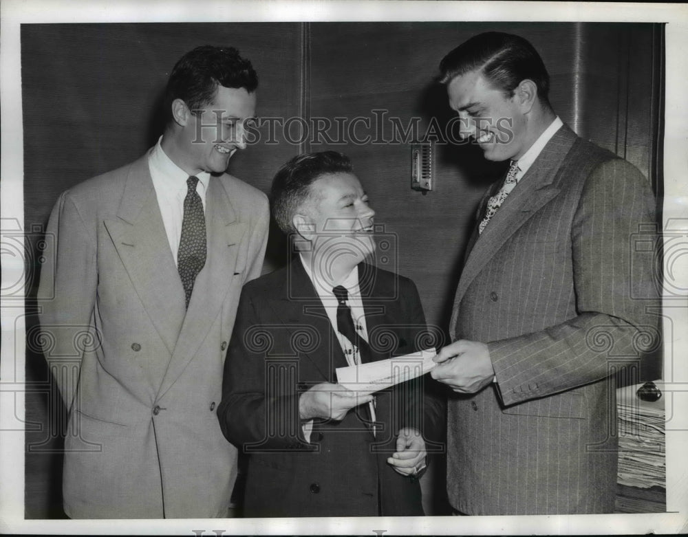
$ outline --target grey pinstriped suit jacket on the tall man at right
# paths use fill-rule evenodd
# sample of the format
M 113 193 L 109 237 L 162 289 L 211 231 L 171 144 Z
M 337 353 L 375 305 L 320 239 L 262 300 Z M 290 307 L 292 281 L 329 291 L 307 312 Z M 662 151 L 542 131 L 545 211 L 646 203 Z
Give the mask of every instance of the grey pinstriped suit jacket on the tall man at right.
M 653 254 L 634 245 L 654 221 L 645 177 L 564 126 L 474 232 L 451 337 L 488 343 L 496 382 L 449 401 L 456 509 L 613 511 L 610 374 L 657 340 Z

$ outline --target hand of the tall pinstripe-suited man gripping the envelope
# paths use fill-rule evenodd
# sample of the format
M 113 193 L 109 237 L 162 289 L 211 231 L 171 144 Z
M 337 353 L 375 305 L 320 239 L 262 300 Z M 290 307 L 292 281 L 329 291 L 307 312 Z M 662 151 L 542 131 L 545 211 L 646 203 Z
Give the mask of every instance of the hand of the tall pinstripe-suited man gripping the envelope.
M 495 377 L 490 351 L 478 341 L 455 341 L 442 347 L 433 361 L 437 362 L 430 372 L 433 379 L 447 384 L 456 393 L 480 391 Z

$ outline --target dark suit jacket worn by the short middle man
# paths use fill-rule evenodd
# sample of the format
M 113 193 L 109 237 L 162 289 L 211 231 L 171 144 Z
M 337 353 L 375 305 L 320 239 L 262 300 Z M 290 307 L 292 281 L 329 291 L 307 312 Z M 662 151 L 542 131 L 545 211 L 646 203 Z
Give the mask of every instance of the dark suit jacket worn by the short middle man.
M 417 351 L 427 332 L 416 286 L 364 263 L 358 270 L 374 360 Z M 378 392 L 377 437 L 363 405 L 342 421 L 316 420 L 310 443 L 303 439 L 299 394 L 336 382 L 334 369 L 346 365 L 298 258 L 244 287 L 218 417 L 250 454 L 246 516 L 423 514 L 418 480 L 385 461 L 399 428 L 436 431 L 444 419 L 437 400 L 424 408 L 423 377 Z

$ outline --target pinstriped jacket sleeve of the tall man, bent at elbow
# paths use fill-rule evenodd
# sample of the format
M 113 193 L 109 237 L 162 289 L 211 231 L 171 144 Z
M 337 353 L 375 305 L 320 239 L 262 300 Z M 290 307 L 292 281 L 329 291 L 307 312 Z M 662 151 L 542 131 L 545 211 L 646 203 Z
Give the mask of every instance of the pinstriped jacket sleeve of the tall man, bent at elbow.
M 637 361 L 658 338 L 653 256 L 634 244 L 654 223 L 645 177 L 625 160 L 598 166 L 583 187 L 571 228 L 577 316 L 489 344 L 506 405 L 600 380 Z

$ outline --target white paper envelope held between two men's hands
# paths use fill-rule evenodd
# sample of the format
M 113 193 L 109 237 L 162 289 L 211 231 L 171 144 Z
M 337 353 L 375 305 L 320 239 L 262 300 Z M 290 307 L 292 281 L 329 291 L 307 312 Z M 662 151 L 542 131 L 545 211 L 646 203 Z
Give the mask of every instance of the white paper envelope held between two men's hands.
M 358 366 L 338 367 L 338 384 L 358 393 L 374 393 L 400 382 L 406 382 L 428 373 L 436 362 L 435 349 L 426 349 L 389 360 L 379 360 Z

